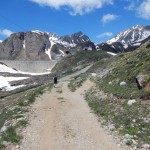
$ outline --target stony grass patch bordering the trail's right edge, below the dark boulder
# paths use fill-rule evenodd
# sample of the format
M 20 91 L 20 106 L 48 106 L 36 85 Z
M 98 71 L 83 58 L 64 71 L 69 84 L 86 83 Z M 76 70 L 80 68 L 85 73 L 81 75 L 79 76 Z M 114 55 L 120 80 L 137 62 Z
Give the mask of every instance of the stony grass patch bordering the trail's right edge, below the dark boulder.
M 85 99 L 105 126 L 113 124 L 122 136 L 131 135 L 137 141 L 137 147 L 150 144 L 149 105 L 140 100 L 128 105 L 128 100 L 103 98 L 95 89 L 88 91 Z M 126 144 L 132 144 L 132 139 Z

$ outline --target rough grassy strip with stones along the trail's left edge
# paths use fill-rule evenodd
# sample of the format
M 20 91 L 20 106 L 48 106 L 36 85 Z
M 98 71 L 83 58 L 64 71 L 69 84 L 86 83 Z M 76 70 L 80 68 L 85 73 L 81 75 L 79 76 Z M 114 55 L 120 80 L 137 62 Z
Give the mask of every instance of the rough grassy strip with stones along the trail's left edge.
M 17 134 L 17 129 L 25 127 L 28 124 L 28 120 L 24 117 L 24 113 L 28 112 L 26 106 L 32 104 L 36 97 L 43 94 L 46 87 L 48 89 L 52 88 L 50 84 L 26 91 L 25 96 L 19 98 L 12 108 L 0 114 L 0 128 L 3 127 L 6 120 L 10 122 L 17 120 L 15 125 L 12 126 L 10 123 L 11 126 L 7 126 L 6 131 L 0 133 L 0 149 L 5 147 L 3 141 L 10 143 L 20 142 L 21 136 Z

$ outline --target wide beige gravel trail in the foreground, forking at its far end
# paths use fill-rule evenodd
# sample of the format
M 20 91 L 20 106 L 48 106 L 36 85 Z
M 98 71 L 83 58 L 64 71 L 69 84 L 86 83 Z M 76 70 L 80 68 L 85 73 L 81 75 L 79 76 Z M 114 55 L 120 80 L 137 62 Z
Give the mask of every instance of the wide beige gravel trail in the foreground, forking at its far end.
M 60 82 L 31 106 L 19 150 L 123 150 L 100 127 L 83 98 L 93 83 L 88 80 L 73 93 L 67 84 Z

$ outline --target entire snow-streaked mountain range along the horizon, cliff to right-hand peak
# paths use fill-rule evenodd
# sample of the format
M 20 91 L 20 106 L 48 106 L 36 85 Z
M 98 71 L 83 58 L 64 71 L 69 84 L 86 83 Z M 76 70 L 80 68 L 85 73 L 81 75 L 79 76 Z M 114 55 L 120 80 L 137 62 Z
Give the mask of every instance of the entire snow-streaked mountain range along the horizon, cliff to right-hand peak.
M 119 53 L 133 51 L 150 40 L 150 26 L 133 26 L 111 40 L 94 44 L 82 32 L 58 36 L 55 33 L 28 31 L 13 33 L 0 42 L 0 59 L 52 60 L 80 50 L 104 50 Z

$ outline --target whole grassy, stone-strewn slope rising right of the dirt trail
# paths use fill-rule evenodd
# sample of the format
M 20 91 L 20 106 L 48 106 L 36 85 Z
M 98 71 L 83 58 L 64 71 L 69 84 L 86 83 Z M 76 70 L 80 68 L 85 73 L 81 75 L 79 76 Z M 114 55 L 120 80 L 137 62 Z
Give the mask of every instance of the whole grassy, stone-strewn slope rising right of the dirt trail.
M 98 74 L 98 70 L 109 68 L 112 70 L 107 75 L 96 78 L 98 89 L 88 91 L 85 99 L 91 109 L 103 118 L 104 126 L 114 126 L 122 136 L 123 143 L 137 149 L 141 149 L 144 144 L 150 145 L 150 91 L 144 88 L 150 82 L 150 47 L 98 61 L 89 72 Z M 147 75 L 141 90 L 135 82 L 139 74 Z M 122 81 L 126 82 L 125 86 L 120 86 Z M 108 93 L 108 96 L 103 97 L 101 90 Z M 136 102 L 128 105 L 128 100 L 132 98 Z M 127 135 L 130 138 L 125 138 Z

